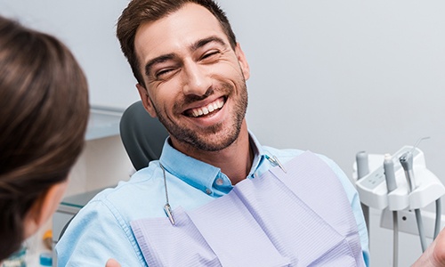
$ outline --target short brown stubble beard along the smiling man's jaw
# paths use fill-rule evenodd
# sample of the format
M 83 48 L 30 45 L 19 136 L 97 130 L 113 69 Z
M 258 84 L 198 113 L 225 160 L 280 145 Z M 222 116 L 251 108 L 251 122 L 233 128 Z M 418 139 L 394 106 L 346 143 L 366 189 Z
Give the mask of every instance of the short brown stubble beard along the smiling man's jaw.
M 163 113 L 158 112 L 159 121 L 166 127 L 168 133 L 174 137 L 178 142 L 182 142 L 193 150 L 203 151 L 219 151 L 229 147 L 233 142 L 238 139 L 241 131 L 241 125 L 247 111 L 247 85 L 243 80 L 239 84 L 239 96 L 235 102 L 235 109 L 231 114 L 231 125 L 226 129 L 223 129 L 223 124 L 211 125 L 196 132 L 190 128 L 182 127 L 174 124 L 172 121 L 166 119 Z M 231 85 L 223 85 L 231 86 Z M 232 87 L 232 86 L 231 86 Z M 231 88 L 231 92 L 234 93 L 234 88 Z M 237 97 L 237 96 L 234 96 Z

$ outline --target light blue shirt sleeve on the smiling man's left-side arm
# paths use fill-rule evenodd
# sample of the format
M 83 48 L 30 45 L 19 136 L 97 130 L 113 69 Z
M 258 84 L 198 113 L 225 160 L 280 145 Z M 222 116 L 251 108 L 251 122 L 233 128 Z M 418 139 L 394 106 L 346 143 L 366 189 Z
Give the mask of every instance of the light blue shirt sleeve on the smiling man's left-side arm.
M 147 266 L 130 226 L 101 200 L 88 203 L 57 243 L 58 266 L 105 266 L 114 258 L 124 266 Z

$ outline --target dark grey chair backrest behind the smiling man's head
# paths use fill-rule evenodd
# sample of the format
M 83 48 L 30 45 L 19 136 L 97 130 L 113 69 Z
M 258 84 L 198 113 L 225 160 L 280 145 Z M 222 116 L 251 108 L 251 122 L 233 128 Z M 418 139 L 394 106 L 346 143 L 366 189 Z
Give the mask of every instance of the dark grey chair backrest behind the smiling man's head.
M 142 101 L 136 101 L 125 109 L 119 128 L 126 153 L 136 171 L 160 157 L 168 133 L 158 118 L 150 117 Z

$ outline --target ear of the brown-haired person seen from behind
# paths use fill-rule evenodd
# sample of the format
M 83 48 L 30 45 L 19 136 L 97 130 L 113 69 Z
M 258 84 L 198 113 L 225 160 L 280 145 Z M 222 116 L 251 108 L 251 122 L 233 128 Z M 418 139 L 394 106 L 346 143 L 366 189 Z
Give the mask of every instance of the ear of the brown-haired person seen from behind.
M 53 215 L 68 186 L 68 179 L 53 184 L 36 199 L 28 210 L 24 221 L 25 238 L 32 236 Z

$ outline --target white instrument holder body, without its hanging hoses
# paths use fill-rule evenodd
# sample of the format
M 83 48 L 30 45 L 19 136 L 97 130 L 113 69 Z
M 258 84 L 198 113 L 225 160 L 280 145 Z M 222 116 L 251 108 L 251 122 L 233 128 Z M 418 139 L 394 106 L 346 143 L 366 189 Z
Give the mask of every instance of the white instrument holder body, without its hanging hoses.
M 412 170 L 415 181 L 407 182 L 405 172 L 399 158 L 412 150 Z M 357 179 L 355 184 L 360 201 L 366 206 L 383 210 L 388 207 L 392 211 L 417 209 L 427 206 L 445 195 L 445 187 L 441 181 L 426 168 L 425 155 L 422 150 L 412 146 L 404 146 L 392 155 L 395 182 L 397 188 L 388 193 L 384 177 L 384 155 L 369 154 L 369 174 Z M 357 177 L 357 164 L 354 164 L 354 177 Z M 410 190 L 410 189 L 413 190 Z

